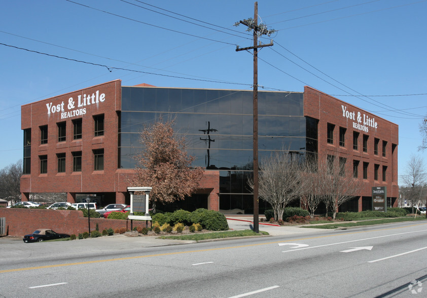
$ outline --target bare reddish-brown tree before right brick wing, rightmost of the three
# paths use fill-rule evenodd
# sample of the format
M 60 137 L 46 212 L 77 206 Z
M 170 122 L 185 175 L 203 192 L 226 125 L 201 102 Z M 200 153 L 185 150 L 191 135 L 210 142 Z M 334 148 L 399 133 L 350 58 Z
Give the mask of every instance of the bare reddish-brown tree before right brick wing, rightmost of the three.
M 327 210 L 332 210 L 333 219 L 335 219 L 339 206 L 360 192 L 361 182 L 353 178 L 352 172 L 345 171 L 345 164 L 335 159 L 328 160 L 326 169 L 323 171 L 327 172 L 326 180 L 322 183 L 323 200 Z

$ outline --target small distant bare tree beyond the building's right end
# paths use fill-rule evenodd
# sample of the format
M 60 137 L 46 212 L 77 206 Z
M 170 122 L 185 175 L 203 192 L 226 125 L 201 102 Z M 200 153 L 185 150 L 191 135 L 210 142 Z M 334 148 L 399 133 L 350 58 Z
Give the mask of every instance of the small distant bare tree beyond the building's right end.
M 410 203 L 412 212 L 414 212 L 414 205 L 418 206 L 421 190 L 423 189 L 422 185 L 426 182 L 425 166 L 421 157 L 411 155 L 406 164 L 405 175 L 403 175 L 402 180 L 409 190 L 406 192 L 405 199 Z

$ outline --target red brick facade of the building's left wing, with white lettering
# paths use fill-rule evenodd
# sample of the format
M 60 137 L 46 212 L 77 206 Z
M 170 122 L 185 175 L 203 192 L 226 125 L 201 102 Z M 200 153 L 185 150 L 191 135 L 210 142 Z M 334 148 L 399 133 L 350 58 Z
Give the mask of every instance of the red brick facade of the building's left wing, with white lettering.
M 118 168 L 121 81 L 23 105 L 21 129 L 31 129 L 31 173 L 21 177 L 22 200 L 29 193 L 66 193 L 74 203 L 76 194 L 110 193 L 125 203 L 133 170 Z M 104 133 L 95 136 L 94 116 L 104 116 Z M 82 137 L 74 139 L 76 119 L 82 120 Z M 58 123 L 66 124 L 66 140 L 58 141 Z M 41 143 L 41 126 L 48 126 L 47 143 Z M 94 170 L 94 150 L 103 149 L 103 170 Z M 82 153 L 82 171 L 73 170 L 73 153 Z M 65 172 L 58 172 L 57 154 L 65 153 Z M 41 174 L 41 156 L 47 156 L 47 173 Z M 148 185 L 145 185 L 148 186 Z M 206 171 L 200 194 L 208 194 L 208 208 L 219 210 L 219 172 Z M 129 203 L 129 202 L 128 202 Z

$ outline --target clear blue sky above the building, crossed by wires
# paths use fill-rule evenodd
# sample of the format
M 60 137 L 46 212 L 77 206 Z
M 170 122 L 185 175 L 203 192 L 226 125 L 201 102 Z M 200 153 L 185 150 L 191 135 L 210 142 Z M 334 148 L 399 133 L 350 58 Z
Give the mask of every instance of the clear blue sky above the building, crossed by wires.
M 253 1 L 76 2 L 86 7 L 1 3 L 0 169 L 22 158 L 25 103 L 115 79 L 251 90 L 252 55 L 235 49 L 251 46 L 252 35 L 233 24 L 254 16 Z M 259 85 L 309 85 L 398 124 L 403 175 L 411 154 L 425 156 L 417 150 L 427 113 L 425 12 L 426 0 L 260 0 L 259 19 L 278 31 L 274 46 L 259 52 Z

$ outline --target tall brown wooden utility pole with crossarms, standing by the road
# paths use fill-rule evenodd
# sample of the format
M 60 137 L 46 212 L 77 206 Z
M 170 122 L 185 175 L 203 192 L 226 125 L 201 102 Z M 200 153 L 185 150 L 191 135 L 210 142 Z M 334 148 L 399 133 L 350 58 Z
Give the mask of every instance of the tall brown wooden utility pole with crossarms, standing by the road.
M 248 48 L 239 48 L 237 46 L 236 52 L 244 50 L 254 50 L 254 140 L 253 140 L 253 154 L 254 154 L 254 232 L 259 233 L 259 201 L 258 201 L 258 49 L 270 47 L 273 41 L 268 45 L 258 45 L 259 35 L 270 35 L 274 30 L 267 30 L 264 24 L 258 26 L 258 2 L 254 5 L 254 19 L 239 21 L 236 23 L 243 24 L 248 27 L 248 30 L 254 31 L 254 46 Z

